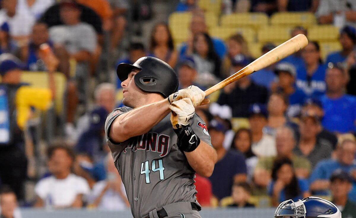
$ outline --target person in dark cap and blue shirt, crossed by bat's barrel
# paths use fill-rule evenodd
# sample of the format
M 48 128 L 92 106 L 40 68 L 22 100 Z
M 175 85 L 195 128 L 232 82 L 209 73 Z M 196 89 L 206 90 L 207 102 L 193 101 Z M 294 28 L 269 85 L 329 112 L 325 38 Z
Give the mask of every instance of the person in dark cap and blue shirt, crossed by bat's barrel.
M 266 54 L 276 46 L 272 43 L 267 43 L 262 47 L 262 54 Z M 265 86 L 268 90 L 271 90 L 273 82 L 276 80 L 276 75 L 273 72 L 273 65 L 258 70 L 250 75 L 251 80 L 257 85 Z

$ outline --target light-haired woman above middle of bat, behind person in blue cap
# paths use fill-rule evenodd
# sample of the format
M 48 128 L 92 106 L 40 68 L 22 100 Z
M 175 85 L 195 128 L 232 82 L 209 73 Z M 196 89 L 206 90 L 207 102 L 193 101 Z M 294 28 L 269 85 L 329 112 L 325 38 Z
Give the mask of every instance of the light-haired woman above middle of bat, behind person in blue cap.
M 224 59 L 224 77 L 230 76 L 231 69 L 231 59 L 233 59 L 236 55 L 243 54 L 245 57 L 250 57 L 250 53 L 248 52 L 247 42 L 241 34 L 236 33 L 227 39 L 227 55 Z

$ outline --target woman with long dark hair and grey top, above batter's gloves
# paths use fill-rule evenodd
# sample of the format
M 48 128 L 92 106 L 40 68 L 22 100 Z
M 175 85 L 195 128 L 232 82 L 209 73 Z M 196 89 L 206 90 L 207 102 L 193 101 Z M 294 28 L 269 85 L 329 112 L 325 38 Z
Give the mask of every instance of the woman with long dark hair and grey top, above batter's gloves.
M 198 33 L 194 37 L 193 47 L 198 81 L 204 85 L 215 84 L 221 78 L 221 60 L 214 50 L 213 41 L 207 33 Z

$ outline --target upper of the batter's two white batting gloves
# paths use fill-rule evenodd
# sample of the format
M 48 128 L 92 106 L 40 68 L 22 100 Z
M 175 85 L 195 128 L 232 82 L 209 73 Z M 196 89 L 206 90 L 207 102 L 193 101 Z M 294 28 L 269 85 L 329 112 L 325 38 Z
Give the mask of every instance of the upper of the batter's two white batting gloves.
M 178 90 L 168 97 L 169 103 L 173 103 L 183 98 L 189 98 L 192 100 L 194 107 L 200 105 L 205 98 L 205 92 L 197 86 L 188 86 L 185 89 Z

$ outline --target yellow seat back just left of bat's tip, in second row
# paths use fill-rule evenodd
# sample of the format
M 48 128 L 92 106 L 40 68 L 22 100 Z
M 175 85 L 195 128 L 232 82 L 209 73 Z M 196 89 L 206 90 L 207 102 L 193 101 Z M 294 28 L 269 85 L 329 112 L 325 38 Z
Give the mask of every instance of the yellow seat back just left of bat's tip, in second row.
M 285 42 L 290 38 L 290 27 L 268 26 L 260 29 L 257 33 L 260 43 Z

